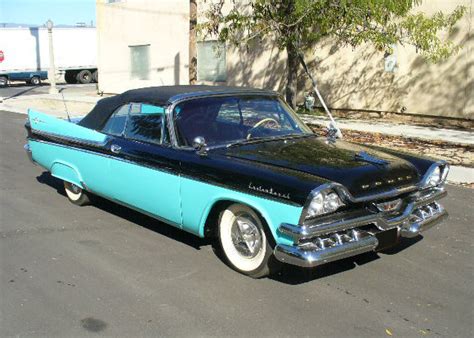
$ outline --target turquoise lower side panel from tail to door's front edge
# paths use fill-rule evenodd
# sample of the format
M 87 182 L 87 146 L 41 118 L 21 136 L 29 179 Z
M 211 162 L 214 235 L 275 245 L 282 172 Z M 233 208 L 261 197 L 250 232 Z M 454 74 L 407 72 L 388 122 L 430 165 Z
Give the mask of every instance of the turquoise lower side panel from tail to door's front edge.
M 33 160 L 54 177 L 85 186 L 175 225 L 181 224 L 180 178 L 88 151 L 29 141 Z

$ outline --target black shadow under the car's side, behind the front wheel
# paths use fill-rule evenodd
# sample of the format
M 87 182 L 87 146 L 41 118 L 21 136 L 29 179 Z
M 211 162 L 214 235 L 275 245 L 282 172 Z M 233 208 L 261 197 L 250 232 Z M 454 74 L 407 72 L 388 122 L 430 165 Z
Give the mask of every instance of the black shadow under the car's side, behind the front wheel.
M 43 172 L 40 176 L 36 177 L 36 180 L 39 183 L 46 184 L 56 189 L 56 191 L 60 195 L 67 198 L 63 187 L 63 181 L 51 176 L 49 172 Z M 195 235 L 187 233 L 184 230 L 175 228 L 160 220 L 142 214 L 133 209 L 124 207 L 105 198 L 96 195 L 92 195 L 90 196 L 90 198 L 92 202 L 92 207 L 101 209 L 107 213 L 113 214 L 129 222 L 135 223 L 143 228 L 154 231 L 160 235 L 169 237 L 173 240 L 189 245 L 190 247 L 193 247 L 196 250 L 200 250 L 201 247 L 210 245 L 212 242 L 210 239 L 199 238 Z

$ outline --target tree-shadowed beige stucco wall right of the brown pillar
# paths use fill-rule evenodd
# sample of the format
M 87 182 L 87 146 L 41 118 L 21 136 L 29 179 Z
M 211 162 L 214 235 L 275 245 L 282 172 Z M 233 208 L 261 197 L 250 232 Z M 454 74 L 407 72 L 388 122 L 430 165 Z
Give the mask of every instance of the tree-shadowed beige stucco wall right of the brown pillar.
M 201 8 L 205 3 L 201 0 Z M 415 11 L 450 12 L 471 0 L 429 0 Z M 200 18 L 203 20 L 202 16 Z M 384 53 L 370 46 L 353 50 L 326 40 L 307 53 L 310 69 L 329 106 L 348 110 L 375 110 L 474 118 L 473 13 L 468 13 L 451 35 L 463 49 L 447 61 L 430 64 L 414 48 L 397 46 L 397 68 L 385 71 Z M 284 93 L 286 53 L 271 41 L 227 51 L 227 84 L 270 88 Z M 198 60 L 199 63 L 199 60 Z M 301 103 L 310 83 L 299 73 Z

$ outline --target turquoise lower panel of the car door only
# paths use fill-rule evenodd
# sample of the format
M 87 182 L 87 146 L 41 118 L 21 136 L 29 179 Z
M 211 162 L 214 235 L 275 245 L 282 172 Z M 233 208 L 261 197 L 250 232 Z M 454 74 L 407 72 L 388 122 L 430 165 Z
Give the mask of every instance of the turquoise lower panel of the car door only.
M 115 199 L 181 225 L 178 175 L 111 159 L 109 176 Z

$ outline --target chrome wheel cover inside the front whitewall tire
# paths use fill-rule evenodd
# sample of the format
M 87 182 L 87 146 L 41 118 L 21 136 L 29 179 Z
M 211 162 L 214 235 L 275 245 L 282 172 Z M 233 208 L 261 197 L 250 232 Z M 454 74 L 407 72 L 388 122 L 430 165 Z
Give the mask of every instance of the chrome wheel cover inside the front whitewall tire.
M 254 258 L 262 250 L 262 234 L 250 215 L 243 214 L 235 218 L 231 237 L 235 249 L 245 258 Z

